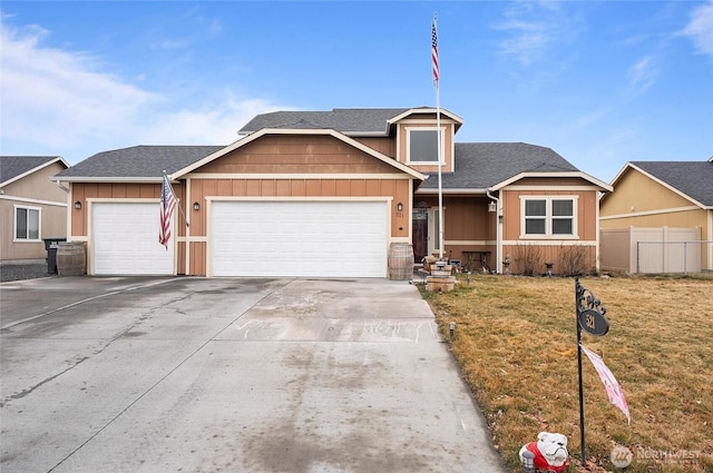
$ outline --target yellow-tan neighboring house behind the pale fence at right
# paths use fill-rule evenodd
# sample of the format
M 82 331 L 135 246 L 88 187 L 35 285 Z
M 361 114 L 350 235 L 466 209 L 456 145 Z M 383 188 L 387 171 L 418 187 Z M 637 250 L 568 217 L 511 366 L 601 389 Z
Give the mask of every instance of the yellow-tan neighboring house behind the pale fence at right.
M 602 198 L 602 268 L 713 270 L 713 157 L 632 161 Z

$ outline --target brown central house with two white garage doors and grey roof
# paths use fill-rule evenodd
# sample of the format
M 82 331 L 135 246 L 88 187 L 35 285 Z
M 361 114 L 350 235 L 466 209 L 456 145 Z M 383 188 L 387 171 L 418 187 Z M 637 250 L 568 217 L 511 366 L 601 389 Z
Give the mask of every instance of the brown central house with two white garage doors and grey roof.
M 88 274 L 387 277 L 391 244 L 413 244 L 417 263 L 440 252 L 440 124 L 446 257 L 500 272 L 510 254 L 515 273 L 536 248 L 536 270 L 557 272 L 576 247 L 596 267 L 607 184 L 548 148 L 457 144 L 462 120 L 438 111 L 277 111 L 228 146 L 100 152 L 56 176 L 76 203 L 69 239 L 86 243 Z M 167 249 L 164 170 L 179 200 Z

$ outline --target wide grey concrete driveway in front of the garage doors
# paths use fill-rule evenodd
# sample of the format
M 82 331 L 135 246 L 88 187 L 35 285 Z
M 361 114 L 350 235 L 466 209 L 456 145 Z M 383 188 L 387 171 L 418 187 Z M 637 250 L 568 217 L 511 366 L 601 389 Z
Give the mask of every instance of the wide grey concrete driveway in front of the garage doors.
M 416 287 L 0 285 L 0 470 L 504 472 Z

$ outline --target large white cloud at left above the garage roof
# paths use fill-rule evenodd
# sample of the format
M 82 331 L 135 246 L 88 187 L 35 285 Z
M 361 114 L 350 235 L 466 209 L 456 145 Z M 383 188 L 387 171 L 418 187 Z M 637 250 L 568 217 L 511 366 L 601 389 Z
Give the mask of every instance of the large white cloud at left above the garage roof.
M 49 31 L 11 27 L 8 18 L 0 29 L 0 152 L 6 155 L 60 155 L 75 164 L 139 144 L 227 145 L 256 114 L 289 108 L 236 99 L 229 89 L 195 105 L 145 90 L 102 71 L 102 58 L 46 47 Z

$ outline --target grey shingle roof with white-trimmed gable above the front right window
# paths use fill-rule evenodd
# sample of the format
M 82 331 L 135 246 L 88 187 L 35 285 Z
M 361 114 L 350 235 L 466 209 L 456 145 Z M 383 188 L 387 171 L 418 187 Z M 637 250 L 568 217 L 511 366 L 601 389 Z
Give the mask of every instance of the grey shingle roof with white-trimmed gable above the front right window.
M 612 190 L 611 186 L 582 173 L 550 148 L 526 142 L 457 142 L 456 173 L 441 174 L 445 191 L 485 194 L 527 176 L 580 177 Z M 420 193 L 438 189 L 433 177 L 421 184 Z

